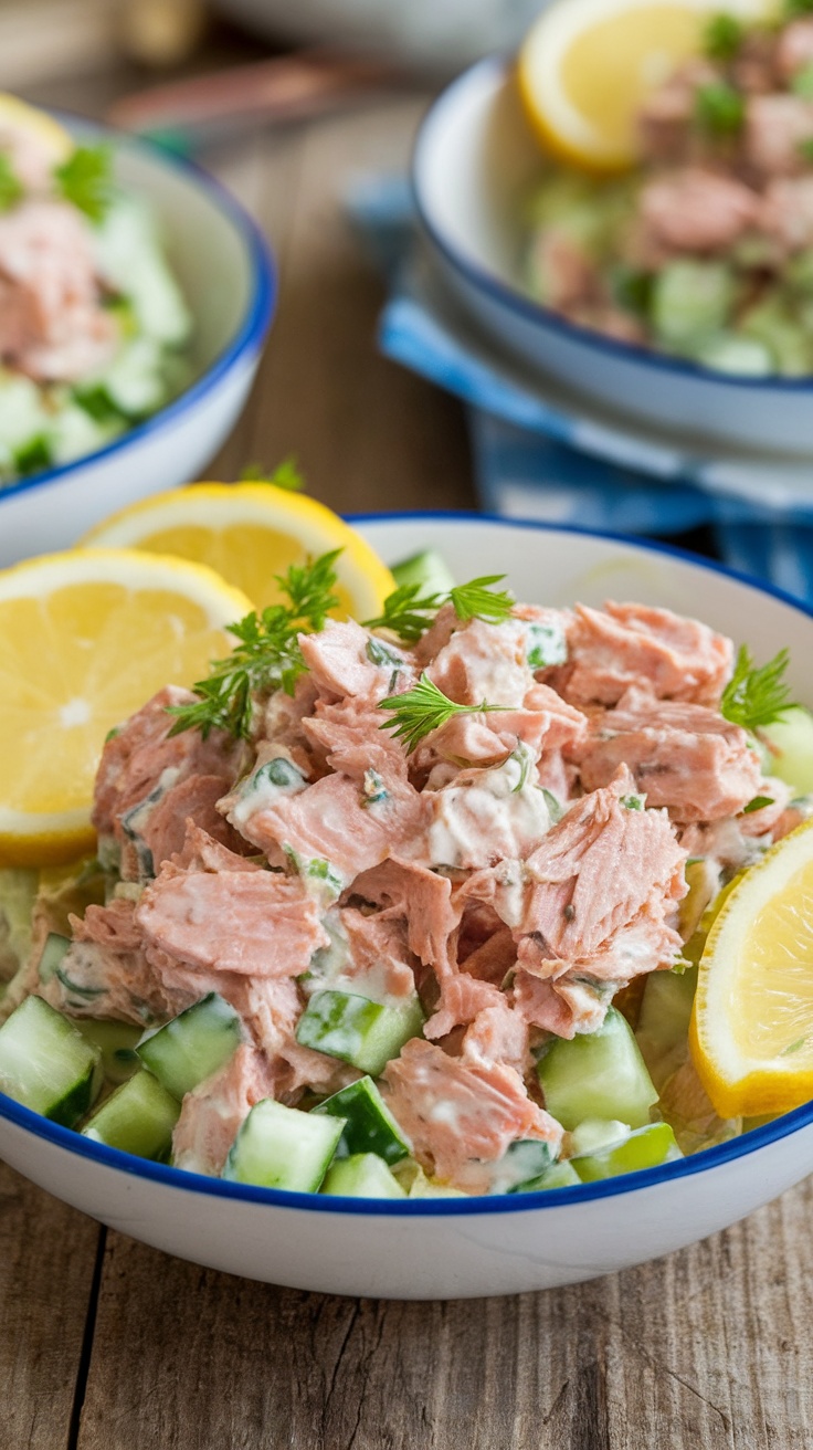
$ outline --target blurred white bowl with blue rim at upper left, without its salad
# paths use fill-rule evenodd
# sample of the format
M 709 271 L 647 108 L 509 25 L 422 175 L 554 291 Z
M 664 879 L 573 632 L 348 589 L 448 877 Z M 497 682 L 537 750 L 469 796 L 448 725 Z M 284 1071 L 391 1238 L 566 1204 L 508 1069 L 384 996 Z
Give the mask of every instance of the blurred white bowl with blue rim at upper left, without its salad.
M 97 452 L 0 487 L 0 566 L 74 544 L 113 509 L 200 477 L 252 384 L 275 299 L 265 241 L 204 171 L 145 141 L 67 122 L 114 146 L 123 187 L 146 197 L 194 319 L 193 383 Z

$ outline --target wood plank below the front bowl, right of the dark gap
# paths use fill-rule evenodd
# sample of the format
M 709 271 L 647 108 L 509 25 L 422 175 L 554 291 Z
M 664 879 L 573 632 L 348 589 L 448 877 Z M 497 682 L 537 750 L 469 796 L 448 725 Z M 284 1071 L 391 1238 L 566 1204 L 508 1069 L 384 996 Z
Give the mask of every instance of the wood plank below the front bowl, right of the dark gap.
M 813 1189 L 655 1264 L 452 1304 L 246 1283 L 110 1235 L 78 1450 L 803 1450 Z

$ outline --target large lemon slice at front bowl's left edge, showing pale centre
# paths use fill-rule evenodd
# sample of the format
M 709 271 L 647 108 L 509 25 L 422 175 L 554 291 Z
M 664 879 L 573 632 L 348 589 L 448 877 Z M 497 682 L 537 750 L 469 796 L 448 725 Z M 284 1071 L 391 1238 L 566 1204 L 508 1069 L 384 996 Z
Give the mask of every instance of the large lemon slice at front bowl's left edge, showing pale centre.
M 164 684 L 191 684 L 251 602 L 212 570 L 135 550 L 74 550 L 0 573 L 0 864 L 93 845 L 107 731 Z

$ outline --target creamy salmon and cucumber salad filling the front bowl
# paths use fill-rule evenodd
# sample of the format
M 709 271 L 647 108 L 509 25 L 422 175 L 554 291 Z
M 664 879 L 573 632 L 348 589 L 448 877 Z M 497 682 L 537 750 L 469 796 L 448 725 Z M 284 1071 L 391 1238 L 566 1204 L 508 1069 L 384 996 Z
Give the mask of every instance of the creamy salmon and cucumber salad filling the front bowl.
M 3 1090 L 178 1169 L 371 1198 L 742 1132 L 687 1028 L 727 884 L 810 812 L 764 728 L 785 661 L 499 576 L 338 621 L 333 579 L 291 570 L 209 680 L 112 732 L 93 861 L 0 873 Z

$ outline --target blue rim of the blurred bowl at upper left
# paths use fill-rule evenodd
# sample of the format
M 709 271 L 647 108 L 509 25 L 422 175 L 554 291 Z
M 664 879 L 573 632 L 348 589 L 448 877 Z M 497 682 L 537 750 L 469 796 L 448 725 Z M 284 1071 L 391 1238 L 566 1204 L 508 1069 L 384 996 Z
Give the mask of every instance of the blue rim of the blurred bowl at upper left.
M 68 126 L 77 130 L 112 138 L 119 149 L 135 151 L 159 170 L 177 171 L 197 187 L 199 191 L 203 191 L 214 209 L 230 223 L 245 246 L 249 289 L 243 315 L 232 331 L 230 339 L 220 348 L 200 377 L 196 377 L 183 393 L 164 407 L 159 407 L 157 413 L 151 413 L 141 423 L 135 423 L 126 432 L 104 444 L 103 448 L 96 448 L 80 458 L 71 458 L 70 463 L 58 464 L 55 468 L 26 474 L 23 478 L 16 478 L 14 483 L 0 484 L 0 509 L 7 499 L 16 499 L 20 494 L 52 483 L 61 483 L 62 480 L 70 481 L 83 468 L 113 458 L 125 448 L 158 434 L 165 425 L 172 426 L 184 413 L 203 402 L 238 362 L 259 352 L 277 306 L 277 265 L 261 228 L 238 199 L 216 177 L 206 171 L 204 167 L 199 165 L 190 157 L 181 157 L 178 152 L 170 151 L 168 146 L 162 146 L 149 136 L 130 135 L 117 126 L 99 123 L 72 112 L 59 110 L 52 115 L 64 119 Z

